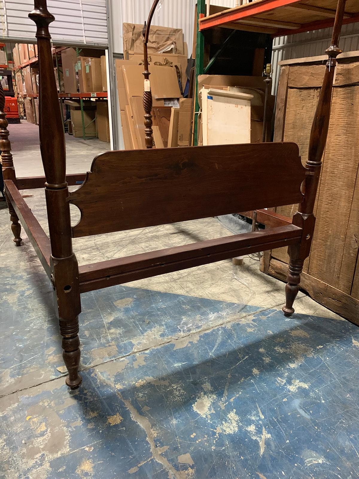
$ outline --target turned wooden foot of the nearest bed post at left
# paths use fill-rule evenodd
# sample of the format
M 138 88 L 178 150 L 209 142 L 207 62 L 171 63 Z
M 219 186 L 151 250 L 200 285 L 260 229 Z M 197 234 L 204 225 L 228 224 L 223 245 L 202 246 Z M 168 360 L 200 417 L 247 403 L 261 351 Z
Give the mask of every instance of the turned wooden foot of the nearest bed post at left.
M 80 364 L 80 340 L 79 332 L 79 317 L 72 321 L 59 320 L 60 333 L 62 336 L 62 357 L 68 371 L 66 384 L 71 389 L 77 389 L 82 382 L 82 377 L 79 375 Z

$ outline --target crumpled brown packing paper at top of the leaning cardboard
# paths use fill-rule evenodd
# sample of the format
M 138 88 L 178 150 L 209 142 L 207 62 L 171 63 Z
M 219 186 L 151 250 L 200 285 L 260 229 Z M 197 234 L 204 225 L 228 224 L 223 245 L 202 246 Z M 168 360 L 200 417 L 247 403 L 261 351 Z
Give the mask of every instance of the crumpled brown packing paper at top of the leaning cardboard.
M 143 53 L 143 25 L 123 23 L 123 51 Z M 148 37 L 148 53 L 177 53 L 184 55 L 183 31 L 152 25 Z

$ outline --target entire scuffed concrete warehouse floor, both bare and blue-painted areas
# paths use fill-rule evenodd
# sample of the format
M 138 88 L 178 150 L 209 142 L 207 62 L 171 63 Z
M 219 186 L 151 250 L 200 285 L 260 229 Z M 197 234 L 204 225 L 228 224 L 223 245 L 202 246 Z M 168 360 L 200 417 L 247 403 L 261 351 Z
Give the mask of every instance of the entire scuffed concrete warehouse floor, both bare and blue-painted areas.
M 37 127 L 9 129 L 18 176 L 41 174 Z M 67 136 L 68 172 L 103 149 Z M 46 229 L 44 192 L 23 194 Z M 248 257 L 166 274 L 82 295 L 70 391 L 51 285 L 5 208 L 0 222 L 1 478 L 359 477 L 355 325 L 303 293 L 286 319 L 284 284 Z M 74 250 L 81 264 L 228 234 L 206 218 Z

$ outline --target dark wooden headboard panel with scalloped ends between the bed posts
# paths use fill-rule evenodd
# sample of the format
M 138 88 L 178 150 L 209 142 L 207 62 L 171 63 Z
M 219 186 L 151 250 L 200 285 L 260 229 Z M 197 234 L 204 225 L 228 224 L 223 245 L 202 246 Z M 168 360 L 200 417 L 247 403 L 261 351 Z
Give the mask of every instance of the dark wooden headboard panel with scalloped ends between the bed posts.
M 74 238 L 301 203 L 295 143 L 108 151 L 69 197 Z

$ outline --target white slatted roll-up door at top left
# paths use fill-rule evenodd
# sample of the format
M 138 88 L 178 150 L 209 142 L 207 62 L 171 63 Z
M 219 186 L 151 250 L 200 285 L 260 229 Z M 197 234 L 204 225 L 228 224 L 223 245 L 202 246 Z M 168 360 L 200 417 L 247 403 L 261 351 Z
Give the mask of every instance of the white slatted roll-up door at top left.
M 55 16 L 54 42 L 107 46 L 106 0 L 48 0 L 47 8 Z M 33 9 L 33 0 L 0 0 L 2 38 L 35 41 L 36 27 L 28 18 Z

